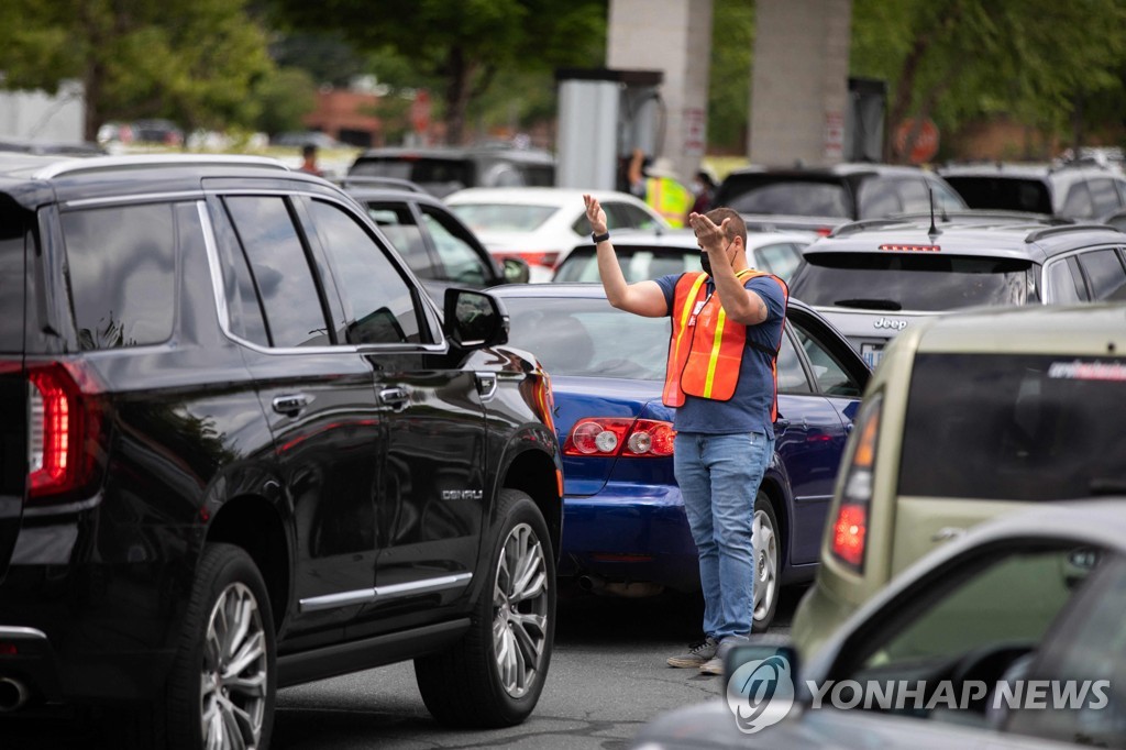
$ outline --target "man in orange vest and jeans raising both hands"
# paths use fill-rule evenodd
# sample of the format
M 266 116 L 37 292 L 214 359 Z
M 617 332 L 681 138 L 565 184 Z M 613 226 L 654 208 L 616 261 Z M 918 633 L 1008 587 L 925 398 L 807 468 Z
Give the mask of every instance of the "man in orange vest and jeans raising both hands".
M 676 409 L 673 473 L 699 556 L 704 640 L 668 663 L 722 675 L 726 652 L 753 627 L 754 498 L 774 455 L 789 291 L 750 268 L 747 225 L 726 207 L 688 216 L 703 271 L 627 284 L 606 212 L 590 195 L 583 202 L 609 303 L 672 319 L 662 401 Z

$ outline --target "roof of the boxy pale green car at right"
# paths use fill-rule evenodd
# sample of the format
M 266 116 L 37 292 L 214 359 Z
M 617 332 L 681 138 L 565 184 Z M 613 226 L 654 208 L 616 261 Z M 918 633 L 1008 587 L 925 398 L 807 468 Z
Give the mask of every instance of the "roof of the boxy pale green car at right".
M 928 318 L 900 337 L 919 351 L 1126 357 L 1126 304 L 967 309 Z M 1105 375 L 1126 380 L 1126 370 Z

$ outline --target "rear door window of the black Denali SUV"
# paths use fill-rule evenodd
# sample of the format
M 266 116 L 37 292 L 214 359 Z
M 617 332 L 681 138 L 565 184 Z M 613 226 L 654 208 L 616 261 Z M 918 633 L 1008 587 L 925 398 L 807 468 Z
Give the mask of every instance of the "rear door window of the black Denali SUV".
M 275 347 L 331 342 L 309 257 L 284 198 L 225 200 L 247 253 Z

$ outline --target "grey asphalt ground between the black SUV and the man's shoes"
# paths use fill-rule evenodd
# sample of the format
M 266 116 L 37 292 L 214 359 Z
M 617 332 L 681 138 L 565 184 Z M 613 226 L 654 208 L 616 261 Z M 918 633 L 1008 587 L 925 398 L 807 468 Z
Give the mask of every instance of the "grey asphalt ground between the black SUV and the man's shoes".
M 788 631 L 801 591 L 779 601 L 776 626 Z M 658 713 L 722 694 L 720 677 L 671 669 L 664 660 L 698 640 L 695 597 L 561 600 L 555 651 L 539 704 L 507 730 L 447 730 L 426 711 L 409 663 L 282 690 L 277 750 L 511 748 L 616 750 Z

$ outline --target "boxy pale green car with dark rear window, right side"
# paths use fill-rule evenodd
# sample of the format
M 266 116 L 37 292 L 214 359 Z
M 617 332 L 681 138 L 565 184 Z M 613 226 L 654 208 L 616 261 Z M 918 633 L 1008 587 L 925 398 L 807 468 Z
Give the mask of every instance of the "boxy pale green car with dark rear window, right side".
M 803 658 L 896 573 L 1037 502 L 1126 493 L 1126 304 L 937 316 L 900 333 L 842 456 Z

